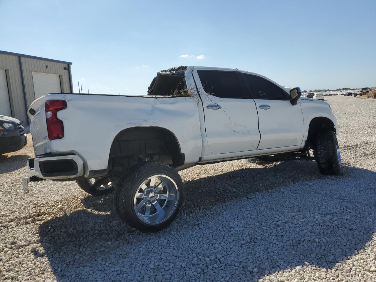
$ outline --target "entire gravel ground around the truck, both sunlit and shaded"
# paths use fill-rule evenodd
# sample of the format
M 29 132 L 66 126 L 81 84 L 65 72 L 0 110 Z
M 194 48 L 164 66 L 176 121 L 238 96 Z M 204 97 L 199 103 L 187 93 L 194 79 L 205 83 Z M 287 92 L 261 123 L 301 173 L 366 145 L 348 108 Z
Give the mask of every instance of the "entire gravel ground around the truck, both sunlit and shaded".
M 21 178 L 33 156 L 0 156 L 0 280 L 376 281 L 376 99 L 325 97 L 337 116 L 343 175 L 315 162 L 245 161 L 181 171 L 182 212 L 140 233 L 112 196 L 75 182 Z

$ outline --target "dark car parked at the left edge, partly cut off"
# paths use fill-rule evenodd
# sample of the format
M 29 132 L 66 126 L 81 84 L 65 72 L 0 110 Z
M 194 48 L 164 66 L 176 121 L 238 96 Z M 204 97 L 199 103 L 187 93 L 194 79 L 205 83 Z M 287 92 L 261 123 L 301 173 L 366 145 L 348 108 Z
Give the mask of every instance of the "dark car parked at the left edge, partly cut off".
M 21 121 L 0 115 L 0 155 L 21 150 L 27 144 L 27 135 Z

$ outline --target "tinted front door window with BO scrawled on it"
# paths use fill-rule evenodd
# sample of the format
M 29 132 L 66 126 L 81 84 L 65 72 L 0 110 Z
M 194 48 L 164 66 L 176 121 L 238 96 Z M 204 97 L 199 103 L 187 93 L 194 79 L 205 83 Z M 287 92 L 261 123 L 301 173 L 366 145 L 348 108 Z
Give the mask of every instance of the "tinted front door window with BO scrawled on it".
M 286 91 L 263 79 L 262 77 L 244 74 L 244 82 L 249 86 L 253 99 L 287 100 Z

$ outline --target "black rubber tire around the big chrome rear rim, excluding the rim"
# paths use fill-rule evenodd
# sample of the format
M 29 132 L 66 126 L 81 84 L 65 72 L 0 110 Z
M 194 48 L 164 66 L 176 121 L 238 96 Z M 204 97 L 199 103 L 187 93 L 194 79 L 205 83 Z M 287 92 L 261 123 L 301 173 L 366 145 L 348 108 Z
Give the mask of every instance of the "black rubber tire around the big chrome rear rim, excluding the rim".
M 147 224 L 137 217 L 133 201 L 139 186 L 149 177 L 158 174 L 164 174 L 174 180 L 179 190 L 179 197 L 177 199 L 176 208 L 167 220 L 158 224 Z M 172 167 L 161 162 L 146 162 L 145 164 L 136 167 L 127 176 L 123 176 L 115 181 L 114 185 L 115 209 L 118 216 L 123 222 L 138 230 L 157 231 L 164 229 L 176 218 L 180 207 L 183 205 L 184 186 L 180 175 Z

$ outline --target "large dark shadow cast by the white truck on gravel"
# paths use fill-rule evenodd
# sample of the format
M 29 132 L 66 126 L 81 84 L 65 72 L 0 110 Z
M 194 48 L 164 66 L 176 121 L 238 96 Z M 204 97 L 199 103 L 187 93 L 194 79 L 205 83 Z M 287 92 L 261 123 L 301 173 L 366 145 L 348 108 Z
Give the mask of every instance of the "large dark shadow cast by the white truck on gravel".
M 183 210 L 156 233 L 121 223 L 111 195 L 87 197 L 82 203 L 102 213 L 79 210 L 46 221 L 40 242 L 58 281 L 157 274 L 244 281 L 305 264 L 330 269 L 361 251 L 376 231 L 376 173 L 343 171 L 322 176 L 314 162 L 282 162 L 185 181 Z

